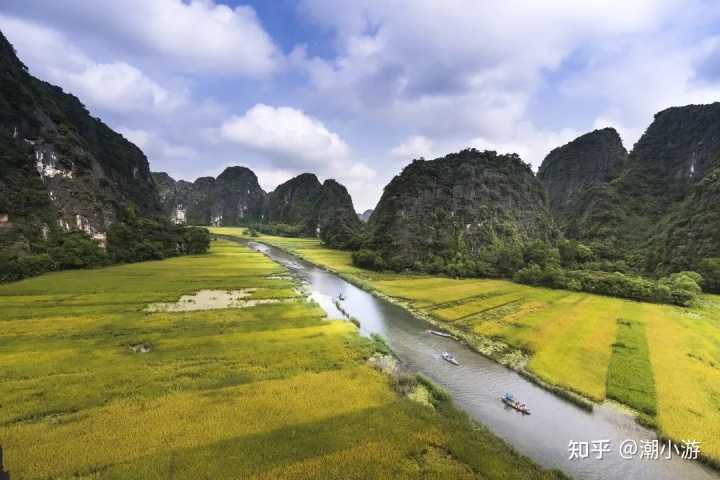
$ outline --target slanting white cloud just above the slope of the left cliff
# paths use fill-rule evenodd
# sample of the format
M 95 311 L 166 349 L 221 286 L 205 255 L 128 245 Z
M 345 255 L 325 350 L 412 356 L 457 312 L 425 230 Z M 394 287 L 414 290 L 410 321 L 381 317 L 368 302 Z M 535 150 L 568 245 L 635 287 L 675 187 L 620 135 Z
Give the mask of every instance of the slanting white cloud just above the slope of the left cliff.
M 125 62 L 95 62 L 54 30 L 2 15 L 0 28 L 31 73 L 72 92 L 90 107 L 168 113 L 188 96 L 185 91 L 163 88 Z

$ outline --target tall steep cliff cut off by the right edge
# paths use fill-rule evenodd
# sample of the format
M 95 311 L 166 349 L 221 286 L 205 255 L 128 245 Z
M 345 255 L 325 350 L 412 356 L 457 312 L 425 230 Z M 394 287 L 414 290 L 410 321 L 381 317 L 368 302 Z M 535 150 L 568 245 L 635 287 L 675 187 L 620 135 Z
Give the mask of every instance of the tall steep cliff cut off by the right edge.
M 617 185 L 635 229 L 649 239 L 647 271 L 697 269 L 720 258 L 719 178 L 720 103 L 655 115 Z

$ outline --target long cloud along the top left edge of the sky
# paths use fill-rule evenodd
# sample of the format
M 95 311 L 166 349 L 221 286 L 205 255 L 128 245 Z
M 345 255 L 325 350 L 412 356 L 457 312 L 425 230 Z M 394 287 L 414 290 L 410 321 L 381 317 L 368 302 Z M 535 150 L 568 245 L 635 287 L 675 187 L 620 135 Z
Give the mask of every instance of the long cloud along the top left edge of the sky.
M 106 40 L 178 70 L 267 76 L 282 52 L 249 6 L 212 0 L 4 0 L 10 12 Z M 28 3 L 31 8 L 28 8 Z

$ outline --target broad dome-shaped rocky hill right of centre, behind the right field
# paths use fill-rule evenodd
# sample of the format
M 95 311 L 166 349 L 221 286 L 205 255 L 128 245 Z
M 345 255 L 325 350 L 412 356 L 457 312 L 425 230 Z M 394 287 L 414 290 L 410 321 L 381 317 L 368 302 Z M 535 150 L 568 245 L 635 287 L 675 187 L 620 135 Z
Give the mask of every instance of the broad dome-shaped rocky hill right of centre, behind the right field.
M 385 187 L 365 247 L 412 265 L 477 257 L 494 242 L 553 242 L 543 184 L 517 155 L 463 150 L 414 160 Z

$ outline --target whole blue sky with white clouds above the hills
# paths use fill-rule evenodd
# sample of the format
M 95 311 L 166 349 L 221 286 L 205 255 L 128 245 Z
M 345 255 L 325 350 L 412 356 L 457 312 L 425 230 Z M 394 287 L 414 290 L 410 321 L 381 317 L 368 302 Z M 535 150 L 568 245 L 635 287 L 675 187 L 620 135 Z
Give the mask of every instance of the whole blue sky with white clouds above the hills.
M 176 179 L 335 178 L 362 211 L 413 158 L 518 153 L 720 100 L 713 0 L 2 0 L 35 76 Z

